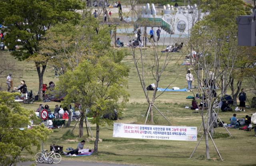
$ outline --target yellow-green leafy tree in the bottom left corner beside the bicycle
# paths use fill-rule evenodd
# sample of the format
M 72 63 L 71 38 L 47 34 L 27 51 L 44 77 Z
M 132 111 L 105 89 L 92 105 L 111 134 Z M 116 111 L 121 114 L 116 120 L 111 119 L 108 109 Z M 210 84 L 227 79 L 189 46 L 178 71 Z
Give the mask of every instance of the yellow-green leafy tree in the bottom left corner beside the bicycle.
M 19 93 L 0 92 L 0 165 L 2 166 L 32 161 L 32 158 L 22 157 L 21 152 L 34 154 L 32 145 L 39 150 L 39 141 L 46 141 L 48 135 L 52 133 L 44 125 L 33 129 L 27 128 L 30 120 L 37 117 L 33 110 L 25 109 L 14 101 L 14 96 L 17 95 Z

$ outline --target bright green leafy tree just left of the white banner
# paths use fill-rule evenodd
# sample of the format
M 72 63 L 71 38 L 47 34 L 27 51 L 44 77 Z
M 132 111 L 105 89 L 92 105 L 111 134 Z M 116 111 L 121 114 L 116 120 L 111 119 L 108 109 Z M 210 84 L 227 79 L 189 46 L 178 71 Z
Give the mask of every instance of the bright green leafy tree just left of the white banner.
M 122 52 L 122 51 L 121 51 Z M 110 119 L 102 117 L 104 113 L 115 113 L 120 115 L 124 104 L 130 96 L 124 88 L 128 88 L 129 67 L 122 64 L 123 53 L 115 54 L 109 51 L 105 56 L 96 61 L 84 60 L 75 68 L 69 70 L 57 82 L 58 87 L 66 92 L 64 103 L 78 102 L 81 105 L 81 119 L 79 124 L 79 137 L 83 137 L 83 120 L 85 112 L 90 109 L 94 116 L 93 124 L 96 124 L 96 141 L 94 151 L 98 152 L 99 126 L 113 123 Z M 119 99 L 122 99 L 119 102 Z

